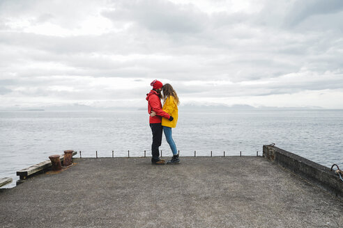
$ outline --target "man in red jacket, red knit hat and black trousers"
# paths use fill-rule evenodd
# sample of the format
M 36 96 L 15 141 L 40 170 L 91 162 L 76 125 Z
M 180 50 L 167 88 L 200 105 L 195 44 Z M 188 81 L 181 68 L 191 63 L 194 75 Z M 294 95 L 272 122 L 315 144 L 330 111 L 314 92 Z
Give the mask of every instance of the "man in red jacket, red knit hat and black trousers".
M 160 81 L 154 80 L 151 84 L 153 89 L 146 95 L 146 100 L 148 101 L 148 113 L 154 111 L 155 116 L 149 117 L 149 124 L 151 131 L 153 132 L 153 144 L 151 145 L 151 163 L 156 165 L 164 165 L 165 161 L 160 159 L 159 147 L 162 142 L 162 117 L 166 117 L 169 121 L 174 120 L 174 118 L 162 110 L 161 104 L 161 91 L 163 84 Z

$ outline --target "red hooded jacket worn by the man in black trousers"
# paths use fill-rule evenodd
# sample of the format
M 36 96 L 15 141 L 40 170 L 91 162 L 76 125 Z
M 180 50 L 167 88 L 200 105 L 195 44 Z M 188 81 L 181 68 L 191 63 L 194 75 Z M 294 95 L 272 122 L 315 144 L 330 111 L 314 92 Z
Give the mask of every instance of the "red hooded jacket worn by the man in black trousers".
M 151 111 L 154 111 L 156 115 L 154 117 L 149 117 L 149 123 L 158 124 L 162 122 L 162 117 L 169 119 L 170 115 L 162 110 L 161 99 L 158 97 L 158 93 L 155 90 L 151 90 L 146 95 L 146 100 L 148 101 L 148 113 L 150 115 Z

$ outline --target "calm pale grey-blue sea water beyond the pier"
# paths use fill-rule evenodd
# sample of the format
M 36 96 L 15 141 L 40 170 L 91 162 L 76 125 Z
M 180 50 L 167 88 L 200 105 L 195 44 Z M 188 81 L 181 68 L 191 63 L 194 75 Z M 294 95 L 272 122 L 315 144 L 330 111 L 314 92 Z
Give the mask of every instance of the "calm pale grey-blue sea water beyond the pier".
M 173 129 L 181 156 L 254 156 L 275 143 L 314 162 L 343 168 L 342 110 L 183 111 Z M 0 178 L 48 160 L 66 149 L 82 157 L 151 155 L 146 111 L 132 112 L 0 112 Z M 163 156 L 172 156 L 162 140 Z M 79 156 L 79 154 L 77 154 Z

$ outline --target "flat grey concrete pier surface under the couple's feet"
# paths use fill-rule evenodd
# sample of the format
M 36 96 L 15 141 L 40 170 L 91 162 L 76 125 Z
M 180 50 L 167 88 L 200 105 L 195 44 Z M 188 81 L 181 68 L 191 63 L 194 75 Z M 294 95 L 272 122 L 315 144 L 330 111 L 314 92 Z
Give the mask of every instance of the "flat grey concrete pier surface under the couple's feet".
M 77 158 L 0 190 L 0 227 L 343 227 L 343 202 L 261 156 Z

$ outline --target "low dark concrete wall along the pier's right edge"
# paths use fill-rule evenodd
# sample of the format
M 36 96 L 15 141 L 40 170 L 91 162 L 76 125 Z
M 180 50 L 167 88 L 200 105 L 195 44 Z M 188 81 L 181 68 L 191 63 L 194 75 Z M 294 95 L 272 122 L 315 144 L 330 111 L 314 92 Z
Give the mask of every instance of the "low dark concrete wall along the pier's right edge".
M 343 181 L 327 168 L 273 145 L 264 145 L 264 157 L 287 168 L 310 183 L 343 199 Z

